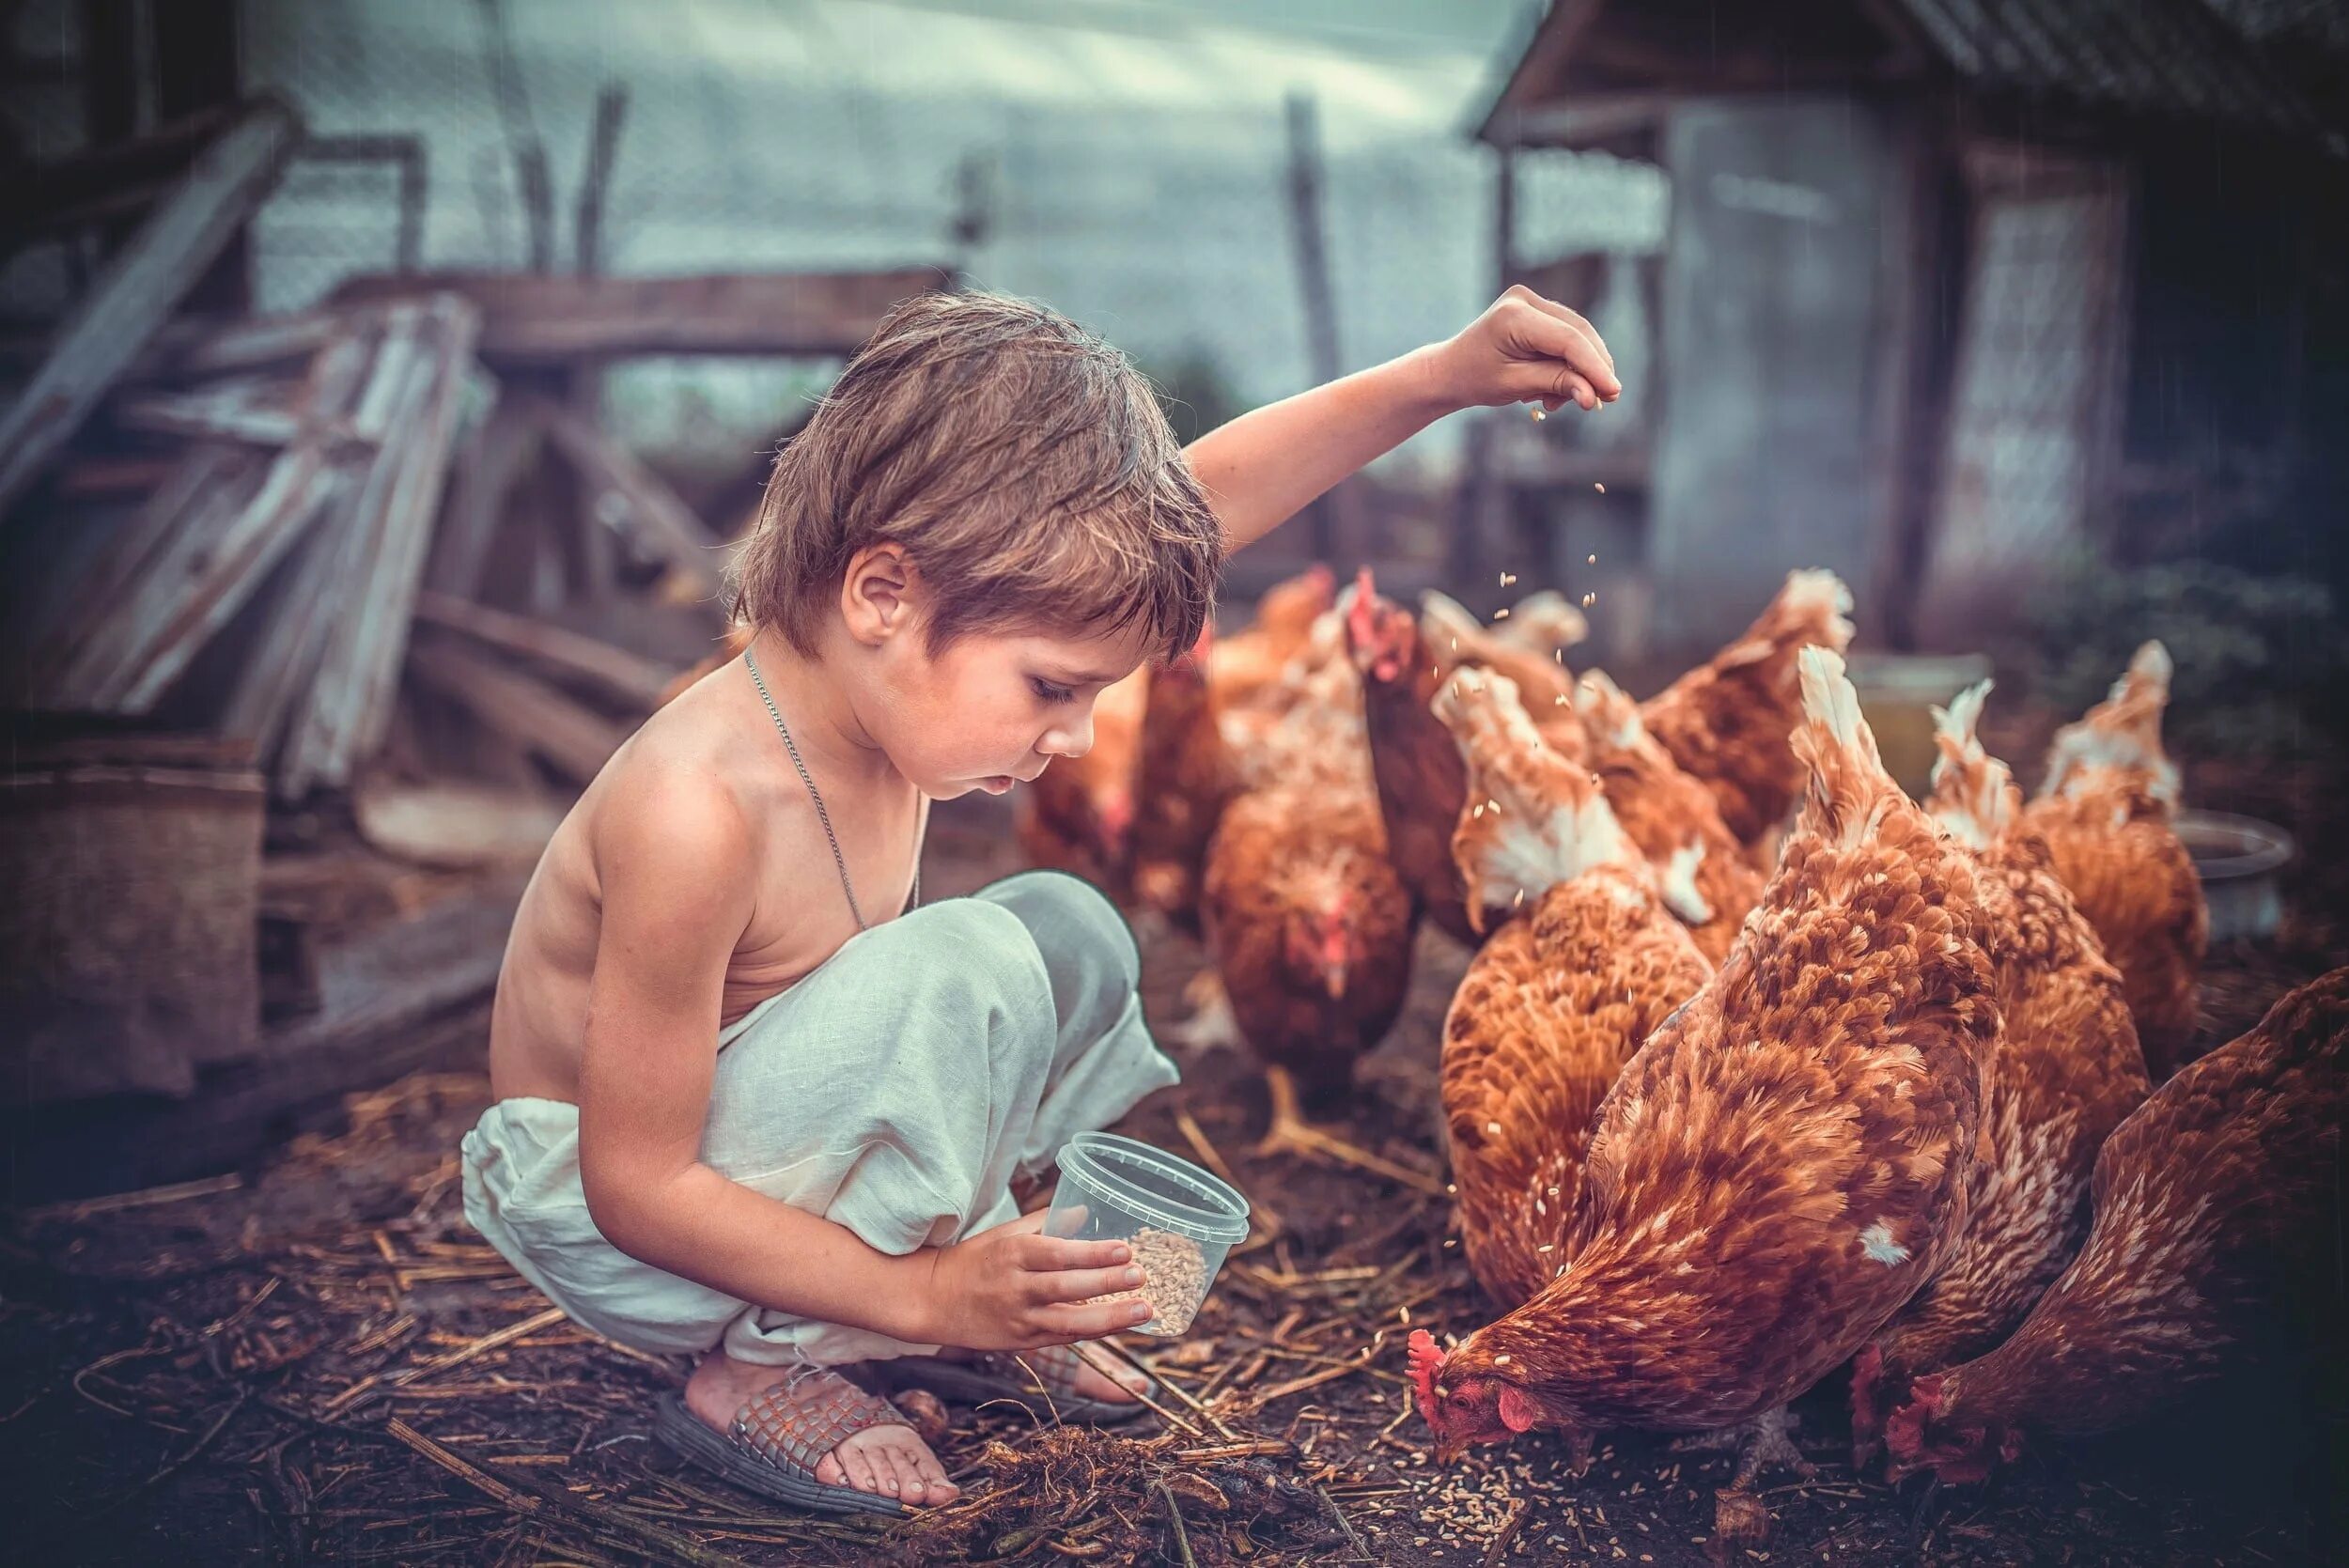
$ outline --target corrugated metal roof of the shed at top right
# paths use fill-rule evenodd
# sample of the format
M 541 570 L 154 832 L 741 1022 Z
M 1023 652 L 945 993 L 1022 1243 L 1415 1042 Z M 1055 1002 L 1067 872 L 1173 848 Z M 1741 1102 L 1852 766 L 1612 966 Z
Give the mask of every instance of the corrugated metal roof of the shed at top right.
M 1898 0 L 1961 77 L 2161 115 L 2326 131 L 2203 0 Z

